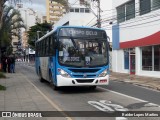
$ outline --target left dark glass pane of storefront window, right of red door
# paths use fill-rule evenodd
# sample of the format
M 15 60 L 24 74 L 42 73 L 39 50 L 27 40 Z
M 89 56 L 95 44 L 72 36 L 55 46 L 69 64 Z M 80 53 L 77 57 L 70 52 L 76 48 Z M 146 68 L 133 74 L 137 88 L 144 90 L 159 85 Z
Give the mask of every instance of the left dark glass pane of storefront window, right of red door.
M 152 71 L 152 46 L 142 47 L 142 70 Z

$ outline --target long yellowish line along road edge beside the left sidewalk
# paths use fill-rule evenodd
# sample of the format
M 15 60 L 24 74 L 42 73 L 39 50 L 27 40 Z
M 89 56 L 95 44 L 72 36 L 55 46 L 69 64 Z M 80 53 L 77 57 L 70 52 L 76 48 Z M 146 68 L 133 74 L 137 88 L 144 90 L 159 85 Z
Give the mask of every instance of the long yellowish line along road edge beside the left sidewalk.
M 22 75 L 23 76 L 23 75 Z M 53 102 L 52 100 L 50 100 L 38 87 L 36 87 L 26 76 L 24 76 L 26 81 L 31 84 L 55 109 L 57 109 L 60 113 L 62 113 L 64 116 L 66 116 L 65 118 L 67 120 L 73 120 L 71 117 L 68 117 L 69 115 L 67 115 L 65 112 L 63 112 L 63 110 L 56 105 L 55 102 Z

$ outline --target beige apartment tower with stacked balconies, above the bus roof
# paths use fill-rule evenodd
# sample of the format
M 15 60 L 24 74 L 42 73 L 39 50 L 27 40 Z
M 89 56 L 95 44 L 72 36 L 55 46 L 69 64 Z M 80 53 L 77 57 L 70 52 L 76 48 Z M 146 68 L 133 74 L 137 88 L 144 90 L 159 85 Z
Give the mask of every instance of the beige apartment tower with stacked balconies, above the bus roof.
M 63 5 L 52 0 L 46 0 L 46 9 L 47 22 L 51 24 L 57 23 L 65 13 Z

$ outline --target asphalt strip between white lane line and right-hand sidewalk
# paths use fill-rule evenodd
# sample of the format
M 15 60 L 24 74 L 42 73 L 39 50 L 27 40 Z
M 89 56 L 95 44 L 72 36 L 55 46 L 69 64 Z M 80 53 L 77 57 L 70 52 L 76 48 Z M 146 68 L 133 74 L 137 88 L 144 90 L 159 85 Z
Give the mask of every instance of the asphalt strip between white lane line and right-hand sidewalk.
M 110 81 L 110 85 L 103 88 L 160 105 L 160 92 L 156 90 L 117 81 Z

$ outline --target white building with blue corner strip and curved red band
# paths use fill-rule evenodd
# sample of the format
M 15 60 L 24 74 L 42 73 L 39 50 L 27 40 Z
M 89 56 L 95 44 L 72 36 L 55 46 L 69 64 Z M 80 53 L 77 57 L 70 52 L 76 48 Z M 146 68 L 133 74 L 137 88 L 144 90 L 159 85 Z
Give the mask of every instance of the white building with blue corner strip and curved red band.
M 112 70 L 160 78 L 160 0 L 113 0 Z

